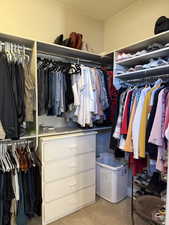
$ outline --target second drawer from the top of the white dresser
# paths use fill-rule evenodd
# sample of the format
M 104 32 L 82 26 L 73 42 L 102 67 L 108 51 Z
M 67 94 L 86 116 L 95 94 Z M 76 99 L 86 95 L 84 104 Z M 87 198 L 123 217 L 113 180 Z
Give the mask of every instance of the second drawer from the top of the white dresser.
M 94 169 L 96 167 L 95 152 L 73 156 L 69 159 L 50 162 L 43 167 L 44 182 L 51 182 L 60 178 Z

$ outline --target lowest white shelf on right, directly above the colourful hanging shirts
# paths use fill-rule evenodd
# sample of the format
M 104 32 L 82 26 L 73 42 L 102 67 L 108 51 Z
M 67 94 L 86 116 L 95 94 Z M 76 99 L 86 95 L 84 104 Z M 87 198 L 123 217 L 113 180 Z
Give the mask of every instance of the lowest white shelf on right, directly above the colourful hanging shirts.
M 143 78 L 143 77 L 158 76 L 158 75 L 164 75 L 164 74 L 169 74 L 169 65 L 123 73 L 120 75 L 116 75 L 115 78 L 119 78 L 119 79 Z

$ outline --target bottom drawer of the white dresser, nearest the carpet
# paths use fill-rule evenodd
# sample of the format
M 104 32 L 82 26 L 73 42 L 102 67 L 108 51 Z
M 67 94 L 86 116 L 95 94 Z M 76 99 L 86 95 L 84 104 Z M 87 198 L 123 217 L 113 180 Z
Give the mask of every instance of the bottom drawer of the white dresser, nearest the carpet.
M 76 211 L 83 205 L 87 205 L 95 201 L 95 186 L 80 190 L 76 193 L 58 199 L 51 203 L 45 204 L 45 222 L 49 223 L 73 211 Z

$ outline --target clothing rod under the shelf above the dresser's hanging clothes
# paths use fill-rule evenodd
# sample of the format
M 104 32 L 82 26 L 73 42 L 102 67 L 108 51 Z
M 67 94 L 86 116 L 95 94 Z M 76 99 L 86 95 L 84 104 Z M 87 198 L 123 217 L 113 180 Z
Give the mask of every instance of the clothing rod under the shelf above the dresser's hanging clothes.
M 38 51 L 38 57 L 40 57 L 40 56 L 42 56 L 42 57 L 46 57 L 46 58 L 49 58 L 49 57 L 51 57 L 51 58 L 58 58 L 58 57 L 60 57 L 60 58 L 67 58 L 67 59 L 72 59 L 72 60 L 76 60 L 77 61 L 77 63 L 79 63 L 79 62 L 86 62 L 86 63 L 93 63 L 93 64 L 95 64 L 95 65 L 101 65 L 101 62 L 96 62 L 96 61 L 94 61 L 94 60 L 88 60 L 88 59 L 81 59 L 81 58 L 78 58 L 78 57 L 72 57 L 72 56 L 65 56 L 65 55 L 60 55 L 60 54 L 51 54 L 51 53 L 47 53 L 47 52 L 43 52 L 43 51 Z

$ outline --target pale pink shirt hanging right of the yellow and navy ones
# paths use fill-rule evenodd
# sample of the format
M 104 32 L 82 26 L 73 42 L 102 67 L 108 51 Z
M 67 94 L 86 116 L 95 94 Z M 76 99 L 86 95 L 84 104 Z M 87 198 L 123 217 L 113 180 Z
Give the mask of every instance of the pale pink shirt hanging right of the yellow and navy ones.
M 158 96 L 158 103 L 156 114 L 153 122 L 153 126 L 151 129 L 150 137 L 148 142 L 155 144 L 157 146 L 163 146 L 163 138 L 162 138 L 162 120 L 163 120 L 163 95 L 164 90 L 162 89 Z

